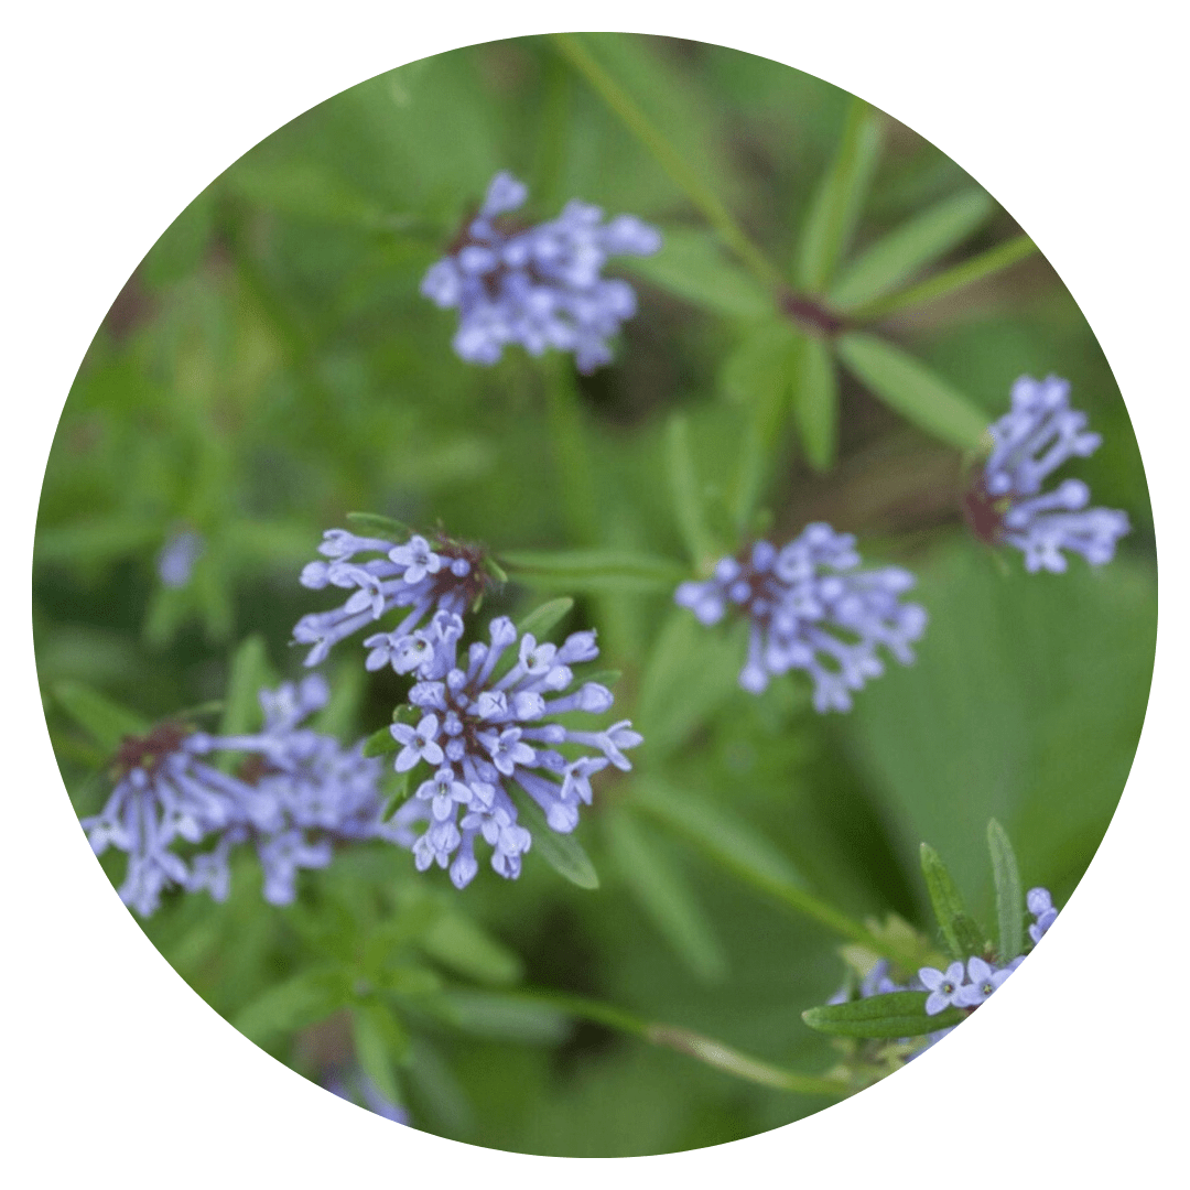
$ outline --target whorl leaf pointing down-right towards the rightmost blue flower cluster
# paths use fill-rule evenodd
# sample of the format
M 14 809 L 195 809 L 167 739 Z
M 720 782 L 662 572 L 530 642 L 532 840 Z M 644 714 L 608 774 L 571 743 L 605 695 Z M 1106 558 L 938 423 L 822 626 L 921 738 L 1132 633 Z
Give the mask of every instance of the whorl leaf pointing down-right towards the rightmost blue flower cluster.
M 847 369 L 902 416 L 960 450 L 984 445 L 988 415 L 921 361 L 859 331 L 840 336 L 835 349 Z

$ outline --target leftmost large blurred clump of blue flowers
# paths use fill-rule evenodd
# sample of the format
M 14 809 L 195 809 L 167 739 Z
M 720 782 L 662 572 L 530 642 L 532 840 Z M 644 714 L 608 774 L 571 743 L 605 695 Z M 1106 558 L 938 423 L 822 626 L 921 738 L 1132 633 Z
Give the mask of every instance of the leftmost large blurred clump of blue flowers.
M 96 854 L 109 846 L 127 853 L 120 888 L 126 904 L 149 916 L 169 887 L 206 889 L 224 900 L 231 848 L 246 841 L 264 870 L 265 900 L 286 904 L 298 870 L 326 866 L 336 841 L 386 833 L 381 763 L 358 745 L 344 749 L 299 726 L 326 700 L 326 683 L 311 675 L 300 685 L 261 691 L 265 722 L 258 733 L 219 737 L 163 724 L 124 739 L 115 789 L 82 825 Z M 248 758 L 232 775 L 211 763 L 217 753 Z M 186 857 L 175 850 L 212 837 L 209 851 Z

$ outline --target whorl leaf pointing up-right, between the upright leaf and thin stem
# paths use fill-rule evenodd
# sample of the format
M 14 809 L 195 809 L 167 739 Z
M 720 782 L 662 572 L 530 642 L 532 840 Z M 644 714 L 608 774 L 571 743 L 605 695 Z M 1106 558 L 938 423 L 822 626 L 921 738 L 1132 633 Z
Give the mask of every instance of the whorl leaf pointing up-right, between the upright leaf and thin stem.
M 852 311 L 891 293 L 962 244 L 994 206 L 987 192 L 969 189 L 922 211 L 860 253 L 831 287 L 831 305 Z

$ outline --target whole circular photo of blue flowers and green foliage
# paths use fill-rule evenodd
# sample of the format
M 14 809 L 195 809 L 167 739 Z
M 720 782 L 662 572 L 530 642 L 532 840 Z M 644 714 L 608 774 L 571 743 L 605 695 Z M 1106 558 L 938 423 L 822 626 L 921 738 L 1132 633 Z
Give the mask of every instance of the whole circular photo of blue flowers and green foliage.
M 33 588 L 81 828 L 190 988 L 562 1157 L 765 1132 L 979 1010 L 1157 622 L 1027 231 L 860 99 L 615 33 L 401 67 L 212 182 L 79 371 Z

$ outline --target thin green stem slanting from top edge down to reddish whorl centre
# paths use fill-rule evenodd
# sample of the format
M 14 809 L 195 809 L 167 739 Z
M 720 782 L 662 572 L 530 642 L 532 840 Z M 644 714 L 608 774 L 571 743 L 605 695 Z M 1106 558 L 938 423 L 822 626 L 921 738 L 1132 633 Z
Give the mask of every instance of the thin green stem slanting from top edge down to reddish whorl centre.
M 620 84 L 595 61 L 575 33 L 553 33 L 559 52 L 595 88 L 609 108 L 644 142 L 660 167 L 685 190 L 690 201 L 703 213 L 724 242 L 747 265 L 753 276 L 766 288 L 782 284 L 781 274 L 769 263 L 764 252 L 735 221 L 719 195 L 693 170 L 682 155 L 665 139 L 660 130 L 632 101 Z

